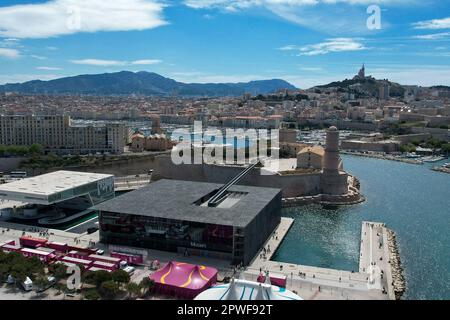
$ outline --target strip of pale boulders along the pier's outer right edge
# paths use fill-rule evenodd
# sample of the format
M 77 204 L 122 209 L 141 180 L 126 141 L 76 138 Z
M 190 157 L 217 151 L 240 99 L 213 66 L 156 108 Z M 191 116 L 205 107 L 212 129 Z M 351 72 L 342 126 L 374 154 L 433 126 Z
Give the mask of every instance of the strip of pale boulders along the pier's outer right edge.
M 397 246 L 397 239 L 394 231 L 386 228 L 389 263 L 392 272 L 392 287 L 394 288 L 395 298 L 399 300 L 406 290 L 406 281 L 403 276 L 403 267 L 400 260 L 400 253 Z

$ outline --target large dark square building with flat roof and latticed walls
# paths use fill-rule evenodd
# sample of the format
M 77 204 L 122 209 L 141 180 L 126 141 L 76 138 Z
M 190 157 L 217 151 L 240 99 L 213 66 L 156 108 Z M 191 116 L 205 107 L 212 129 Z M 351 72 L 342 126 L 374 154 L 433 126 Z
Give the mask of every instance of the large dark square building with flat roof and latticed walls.
M 249 264 L 280 223 L 281 190 L 223 187 L 160 180 L 101 203 L 100 241 Z

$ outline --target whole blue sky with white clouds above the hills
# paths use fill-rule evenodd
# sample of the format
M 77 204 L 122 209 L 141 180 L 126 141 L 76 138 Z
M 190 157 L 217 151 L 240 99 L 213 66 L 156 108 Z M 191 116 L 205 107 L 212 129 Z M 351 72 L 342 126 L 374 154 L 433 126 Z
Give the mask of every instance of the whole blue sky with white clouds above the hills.
M 450 0 L 0 0 L 0 84 L 129 70 L 309 88 L 363 63 L 450 85 Z

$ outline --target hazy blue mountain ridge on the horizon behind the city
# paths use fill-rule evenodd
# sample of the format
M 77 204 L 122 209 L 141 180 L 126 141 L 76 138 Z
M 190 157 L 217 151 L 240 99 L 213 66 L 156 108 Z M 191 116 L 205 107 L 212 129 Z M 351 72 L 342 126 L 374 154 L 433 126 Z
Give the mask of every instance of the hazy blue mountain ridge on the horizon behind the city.
M 183 83 L 154 72 L 120 71 L 115 73 L 84 74 L 54 80 L 32 80 L 24 83 L 0 85 L 0 92 L 25 94 L 92 94 L 92 95 L 149 95 L 149 96 L 239 96 L 294 90 L 295 86 L 281 79 L 255 80 L 239 83 Z

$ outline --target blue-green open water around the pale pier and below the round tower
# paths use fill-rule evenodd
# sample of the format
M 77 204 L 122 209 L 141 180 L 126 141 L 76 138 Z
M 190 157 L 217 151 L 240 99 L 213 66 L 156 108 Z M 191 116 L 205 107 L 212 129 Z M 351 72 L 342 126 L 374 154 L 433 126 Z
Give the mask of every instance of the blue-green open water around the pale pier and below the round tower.
M 274 260 L 358 271 L 361 222 L 384 222 L 397 234 L 405 269 L 404 299 L 450 299 L 450 174 L 440 163 L 412 165 L 343 156 L 367 201 L 354 206 L 289 208 L 294 225 Z

